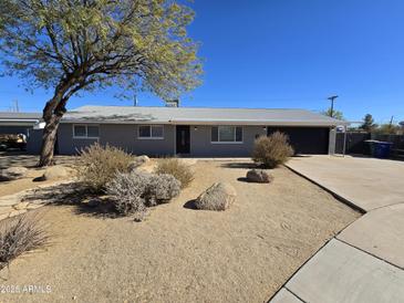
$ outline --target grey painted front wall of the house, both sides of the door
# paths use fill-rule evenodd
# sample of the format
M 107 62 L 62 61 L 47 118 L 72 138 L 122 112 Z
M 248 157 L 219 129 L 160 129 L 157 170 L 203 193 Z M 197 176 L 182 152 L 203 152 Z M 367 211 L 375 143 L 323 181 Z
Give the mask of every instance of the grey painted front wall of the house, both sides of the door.
M 242 126 L 242 143 L 211 143 L 211 126 L 190 125 L 189 128 L 191 157 L 249 157 L 255 138 L 267 134 L 265 126 Z M 101 145 L 110 144 L 135 155 L 173 156 L 176 149 L 176 126 L 164 125 L 163 139 L 139 139 L 138 125 L 130 124 L 101 124 L 99 139 L 73 138 L 72 124 L 61 124 L 59 127 L 59 154 L 76 154 L 95 142 Z M 308 142 L 313 144 L 313 138 Z M 329 152 L 332 152 L 335 140 L 331 134 L 329 145 Z

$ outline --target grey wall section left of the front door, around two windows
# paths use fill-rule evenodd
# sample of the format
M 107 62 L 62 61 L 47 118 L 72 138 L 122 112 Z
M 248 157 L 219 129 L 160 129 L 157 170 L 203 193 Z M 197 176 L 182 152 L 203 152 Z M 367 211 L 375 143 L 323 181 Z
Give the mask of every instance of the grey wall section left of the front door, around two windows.
M 82 148 L 96 142 L 101 145 L 120 147 L 135 155 L 174 155 L 175 127 L 164 125 L 164 139 L 139 139 L 138 126 L 131 124 L 101 124 L 99 139 L 73 138 L 73 125 L 61 124 L 58 133 L 58 147 L 61 155 L 77 154 Z

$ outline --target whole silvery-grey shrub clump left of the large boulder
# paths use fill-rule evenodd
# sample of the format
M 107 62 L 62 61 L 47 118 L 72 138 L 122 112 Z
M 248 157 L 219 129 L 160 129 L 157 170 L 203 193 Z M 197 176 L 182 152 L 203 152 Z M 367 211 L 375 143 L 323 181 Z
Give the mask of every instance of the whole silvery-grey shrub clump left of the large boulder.
M 172 175 L 156 175 L 133 170 L 128 174 L 116 173 L 107 184 L 115 209 L 121 215 L 146 213 L 146 206 L 168 202 L 180 191 L 180 182 Z

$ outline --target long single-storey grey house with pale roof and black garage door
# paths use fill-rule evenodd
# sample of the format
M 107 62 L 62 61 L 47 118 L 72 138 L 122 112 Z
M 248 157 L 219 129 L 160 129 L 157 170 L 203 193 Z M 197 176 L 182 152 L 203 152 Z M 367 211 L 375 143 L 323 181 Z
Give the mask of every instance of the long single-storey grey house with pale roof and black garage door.
M 135 155 L 248 157 L 258 136 L 281 130 L 299 154 L 333 154 L 344 124 L 304 109 L 83 106 L 63 117 L 56 149 L 97 142 Z

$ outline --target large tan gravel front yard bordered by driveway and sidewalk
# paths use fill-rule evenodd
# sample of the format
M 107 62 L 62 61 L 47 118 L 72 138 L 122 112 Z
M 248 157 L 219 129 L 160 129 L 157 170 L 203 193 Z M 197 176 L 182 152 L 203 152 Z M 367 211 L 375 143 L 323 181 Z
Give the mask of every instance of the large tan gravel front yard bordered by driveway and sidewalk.
M 360 215 L 287 168 L 270 185 L 248 184 L 248 164 L 198 161 L 193 185 L 143 222 L 49 206 L 53 234 L 18 258 L 4 285 L 50 288 L 1 302 L 263 302 L 323 243 Z M 193 209 L 215 181 L 237 191 L 222 212 Z

